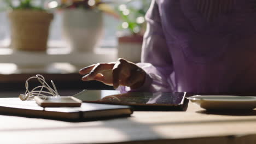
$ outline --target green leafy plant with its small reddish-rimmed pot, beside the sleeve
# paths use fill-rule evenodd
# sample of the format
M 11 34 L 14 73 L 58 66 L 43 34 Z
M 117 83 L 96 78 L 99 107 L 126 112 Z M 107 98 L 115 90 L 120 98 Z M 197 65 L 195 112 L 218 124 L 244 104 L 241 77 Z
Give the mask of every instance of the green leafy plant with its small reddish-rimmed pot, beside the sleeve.
M 146 30 L 144 16 L 149 8 L 150 1 L 129 1 L 118 6 L 121 17 L 121 29 L 118 33 L 118 57 L 132 62 L 141 61 L 141 47 Z

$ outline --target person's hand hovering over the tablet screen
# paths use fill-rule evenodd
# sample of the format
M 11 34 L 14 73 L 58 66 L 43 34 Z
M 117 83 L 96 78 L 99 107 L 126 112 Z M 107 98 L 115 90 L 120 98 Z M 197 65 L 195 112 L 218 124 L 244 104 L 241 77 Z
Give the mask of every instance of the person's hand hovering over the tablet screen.
M 85 75 L 83 81 L 101 81 L 106 85 L 117 88 L 119 85 L 128 86 L 131 89 L 143 85 L 146 72 L 135 63 L 119 58 L 113 63 L 97 63 L 79 70 L 79 74 Z

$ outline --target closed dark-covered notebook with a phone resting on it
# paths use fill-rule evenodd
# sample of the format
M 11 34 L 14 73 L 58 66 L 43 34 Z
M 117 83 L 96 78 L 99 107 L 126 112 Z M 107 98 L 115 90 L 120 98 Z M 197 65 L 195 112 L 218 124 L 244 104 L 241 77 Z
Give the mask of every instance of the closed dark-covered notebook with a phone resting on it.
M 81 107 L 40 107 L 36 101 L 19 98 L 0 98 L 0 113 L 63 120 L 101 119 L 130 116 L 130 106 L 82 103 Z

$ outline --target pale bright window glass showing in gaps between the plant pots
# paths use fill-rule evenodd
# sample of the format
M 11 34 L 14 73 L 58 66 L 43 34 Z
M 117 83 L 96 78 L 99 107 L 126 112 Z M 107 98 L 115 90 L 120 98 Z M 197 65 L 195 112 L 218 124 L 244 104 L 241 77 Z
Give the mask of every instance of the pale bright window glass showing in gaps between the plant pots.
M 0 2 L 0 5 L 2 2 Z M 100 42 L 101 47 L 116 47 L 119 20 L 114 17 L 104 14 L 104 33 L 103 39 Z M 65 44 L 62 41 L 62 13 L 56 11 L 54 20 L 51 23 L 49 35 L 49 47 L 63 47 Z M 9 22 L 6 12 L 0 13 L 0 47 L 8 47 L 10 44 Z

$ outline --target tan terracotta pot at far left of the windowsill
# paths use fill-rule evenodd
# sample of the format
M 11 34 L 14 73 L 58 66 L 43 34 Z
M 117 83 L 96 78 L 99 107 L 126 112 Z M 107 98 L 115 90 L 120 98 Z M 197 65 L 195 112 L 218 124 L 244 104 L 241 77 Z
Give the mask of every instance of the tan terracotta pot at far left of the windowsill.
M 46 51 L 53 14 L 38 10 L 13 10 L 8 17 L 13 49 Z

